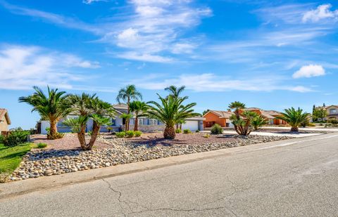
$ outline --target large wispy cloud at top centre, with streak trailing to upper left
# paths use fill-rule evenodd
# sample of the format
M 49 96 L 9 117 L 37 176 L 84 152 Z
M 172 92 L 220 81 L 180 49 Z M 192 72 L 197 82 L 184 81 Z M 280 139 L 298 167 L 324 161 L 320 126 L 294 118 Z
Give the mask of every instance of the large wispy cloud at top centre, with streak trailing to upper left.
M 91 4 L 97 0 L 85 0 Z M 76 18 L 32 8 L 15 6 L 6 1 L 0 4 L 18 15 L 28 15 L 53 22 L 62 27 L 81 29 L 96 34 L 96 42 L 107 43 L 120 48 L 117 56 L 130 60 L 168 63 L 168 54 L 192 53 L 198 45 L 194 39 L 184 37 L 187 29 L 199 25 L 201 19 L 211 15 L 208 7 L 196 8 L 188 0 L 128 1 L 132 11 L 116 20 L 96 20 L 89 24 Z M 118 18 L 118 16 L 114 16 Z M 155 57 L 155 58 L 154 58 Z

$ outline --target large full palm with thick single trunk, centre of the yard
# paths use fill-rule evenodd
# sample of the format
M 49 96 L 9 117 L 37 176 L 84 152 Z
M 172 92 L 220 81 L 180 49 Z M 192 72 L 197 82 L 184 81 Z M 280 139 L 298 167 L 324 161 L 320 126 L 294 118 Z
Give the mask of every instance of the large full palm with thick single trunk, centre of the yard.
M 174 139 L 176 136 L 175 124 L 182 119 L 196 115 L 192 109 L 196 103 L 183 105 L 184 100 L 187 100 L 187 96 L 177 98 L 169 95 L 166 98 L 162 98 L 158 95 L 158 98 L 161 101 L 161 104 L 154 101 L 149 102 L 149 110 L 147 110 L 145 114 L 149 117 L 156 118 L 165 124 L 165 130 L 163 132 L 164 138 Z

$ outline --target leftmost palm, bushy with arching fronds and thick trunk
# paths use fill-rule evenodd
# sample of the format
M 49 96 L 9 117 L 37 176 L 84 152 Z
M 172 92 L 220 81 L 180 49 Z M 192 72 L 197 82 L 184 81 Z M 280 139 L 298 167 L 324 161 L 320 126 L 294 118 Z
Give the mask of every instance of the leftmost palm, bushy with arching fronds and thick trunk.
M 48 95 L 45 95 L 39 87 L 34 86 L 33 88 L 35 93 L 27 97 L 20 97 L 19 102 L 32 105 L 32 112 L 37 111 L 42 119 L 49 120 L 50 131 L 47 138 L 59 138 L 56 124 L 70 112 L 68 104 L 65 103 L 67 98 L 65 91 L 58 91 L 57 88 L 50 89 L 48 86 Z

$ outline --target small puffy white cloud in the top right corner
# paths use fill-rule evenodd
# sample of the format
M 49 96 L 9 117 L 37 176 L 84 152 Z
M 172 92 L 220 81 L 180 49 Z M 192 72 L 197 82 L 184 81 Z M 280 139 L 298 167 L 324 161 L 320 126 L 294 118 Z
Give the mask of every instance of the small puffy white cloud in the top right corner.
M 332 8 L 331 4 L 322 4 L 318 6 L 315 10 L 307 11 L 303 15 L 303 22 L 318 22 L 320 20 L 326 20 L 328 18 L 332 18 L 337 20 L 338 18 L 338 10 L 330 11 Z

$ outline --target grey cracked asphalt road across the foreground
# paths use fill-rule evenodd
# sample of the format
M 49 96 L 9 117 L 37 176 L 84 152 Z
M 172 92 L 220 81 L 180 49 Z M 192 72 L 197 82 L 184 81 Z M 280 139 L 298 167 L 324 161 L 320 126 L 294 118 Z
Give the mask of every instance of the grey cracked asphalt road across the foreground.
M 0 216 L 338 216 L 338 134 L 10 197 Z

